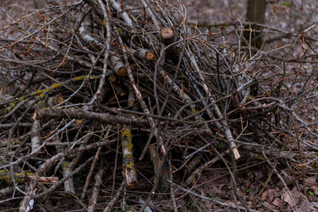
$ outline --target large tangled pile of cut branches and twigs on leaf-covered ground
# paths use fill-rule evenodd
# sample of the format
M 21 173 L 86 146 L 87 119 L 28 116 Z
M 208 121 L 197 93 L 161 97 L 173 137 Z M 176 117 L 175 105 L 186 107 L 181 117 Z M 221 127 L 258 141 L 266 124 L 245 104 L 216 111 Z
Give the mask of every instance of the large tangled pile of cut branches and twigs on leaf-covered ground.
M 249 46 L 240 20 L 202 33 L 173 3 L 40 1 L 17 19 L 1 8 L 11 20 L 0 37 L 1 208 L 53 211 L 64 198 L 73 209 L 151 211 L 162 194 L 180 211 L 187 193 L 253 211 L 237 194 L 240 158 L 261 157 L 278 176 L 268 158 L 314 172 L 317 121 L 302 105 L 317 66 L 281 69 L 270 61 L 284 47 Z M 298 90 L 290 76 L 302 78 Z M 187 189 L 217 162 L 241 206 Z

